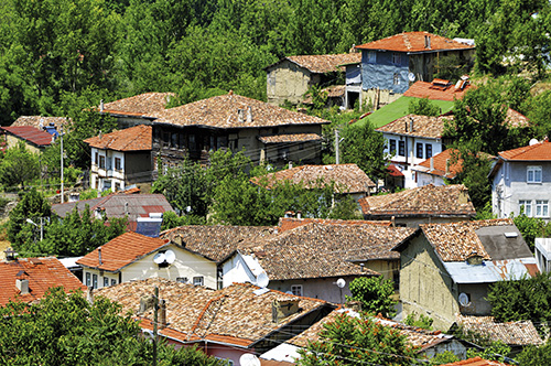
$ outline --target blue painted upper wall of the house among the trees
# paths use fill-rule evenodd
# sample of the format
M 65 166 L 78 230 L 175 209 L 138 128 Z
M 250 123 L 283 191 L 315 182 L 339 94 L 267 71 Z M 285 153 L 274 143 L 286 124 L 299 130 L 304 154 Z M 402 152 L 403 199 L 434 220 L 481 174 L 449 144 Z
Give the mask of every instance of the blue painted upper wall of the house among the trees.
M 375 52 L 375 61 L 369 60 L 369 52 Z M 399 54 L 399 63 L 393 62 L 392 54 Z M 406 52 L 361 50 L 361 87 L 364 90 L 378 87 L 391 89 L 395 93 L 406 93 L 409 88 L 408 73 L 409 56 Z

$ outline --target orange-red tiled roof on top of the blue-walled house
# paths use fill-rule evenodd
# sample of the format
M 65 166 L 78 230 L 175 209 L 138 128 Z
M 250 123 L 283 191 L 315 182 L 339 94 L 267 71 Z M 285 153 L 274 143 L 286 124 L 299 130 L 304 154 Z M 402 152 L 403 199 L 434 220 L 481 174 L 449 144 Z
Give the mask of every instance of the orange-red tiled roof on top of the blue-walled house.
M 425 46 L 430 37 L 430 47 Z M 385 50 L 397 52 L 433 52 L 450 50 L 472 50 L 474 46 L 429 32 L 404 32 L 386 39 L 356 46 L 359 50 Z

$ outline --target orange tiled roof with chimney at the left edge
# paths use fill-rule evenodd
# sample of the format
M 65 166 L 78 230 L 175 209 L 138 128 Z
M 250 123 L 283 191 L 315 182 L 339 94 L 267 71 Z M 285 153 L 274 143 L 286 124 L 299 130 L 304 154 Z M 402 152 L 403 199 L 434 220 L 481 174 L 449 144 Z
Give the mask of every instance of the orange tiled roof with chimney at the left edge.
M 20 294 L 15 280 L 29 280 L 29 293 Z M 10 300 L 32 302 L 44 297 L 50 288 L 63 287 L 66 292 L 83 290 L 84 286 L 57 258 L 19 258 L 0 262 L 0 305 Z

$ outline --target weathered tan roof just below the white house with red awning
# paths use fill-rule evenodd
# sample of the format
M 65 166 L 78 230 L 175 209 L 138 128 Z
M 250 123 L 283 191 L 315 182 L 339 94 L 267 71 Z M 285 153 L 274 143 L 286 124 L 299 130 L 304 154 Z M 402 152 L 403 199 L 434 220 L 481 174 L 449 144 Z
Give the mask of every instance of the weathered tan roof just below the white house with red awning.
M 366 218 L 408 216 L 475 216 L 463 184 L 424 186 L 359 200 Z

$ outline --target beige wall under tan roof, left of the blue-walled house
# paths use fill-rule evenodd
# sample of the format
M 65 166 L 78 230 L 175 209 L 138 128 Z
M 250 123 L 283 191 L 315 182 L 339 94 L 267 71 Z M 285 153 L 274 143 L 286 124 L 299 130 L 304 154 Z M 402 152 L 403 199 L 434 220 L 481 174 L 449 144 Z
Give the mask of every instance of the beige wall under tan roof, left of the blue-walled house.
M 266 92 L 268 103 L 279 106 L 287 100 L 298 104 L 310 86 L 316 84 L 316 79 L 310 71 L 301 67 L 289 60 L 273 66 L 268 71 Z

